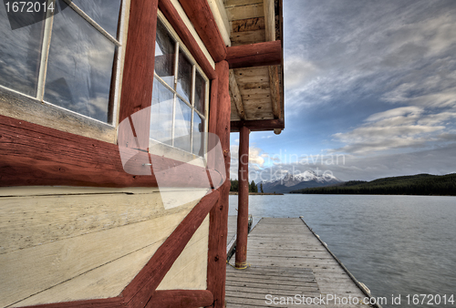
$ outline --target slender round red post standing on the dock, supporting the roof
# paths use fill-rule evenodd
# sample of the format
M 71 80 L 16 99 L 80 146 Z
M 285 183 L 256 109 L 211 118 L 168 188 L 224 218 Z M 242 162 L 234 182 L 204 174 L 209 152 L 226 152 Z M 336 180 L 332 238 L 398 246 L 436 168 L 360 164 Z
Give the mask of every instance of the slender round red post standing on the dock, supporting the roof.
M 239 130 L 239 194 L 237 213 L 236 267 L 244 268 L 247 262 L 247 236 L 249 225 L 249 128 Z

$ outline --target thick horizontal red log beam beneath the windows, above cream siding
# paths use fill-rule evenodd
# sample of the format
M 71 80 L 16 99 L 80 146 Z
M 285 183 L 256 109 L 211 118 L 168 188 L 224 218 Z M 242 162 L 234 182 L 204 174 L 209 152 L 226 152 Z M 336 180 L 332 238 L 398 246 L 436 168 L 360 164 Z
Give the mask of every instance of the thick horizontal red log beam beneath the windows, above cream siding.
M 160 169 L 182 164 L 150 157 Z M 183 173 L 171 172 L 161 186 L 195 187 L 207 182 L 204 168 L 186 164 Z M 126 173 L 117 145 L 0 116 L 0 187 L 33 185 L 120 188 L 157 187 L 158 183 L 153 172 L 151 176 Z

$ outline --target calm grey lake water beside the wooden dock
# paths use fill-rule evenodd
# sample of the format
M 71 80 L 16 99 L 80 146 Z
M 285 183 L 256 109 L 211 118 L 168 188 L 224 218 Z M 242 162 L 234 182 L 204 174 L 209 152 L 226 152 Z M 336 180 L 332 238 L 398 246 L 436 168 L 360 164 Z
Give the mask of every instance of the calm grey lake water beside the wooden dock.
M 250 196 L 250 213 L 299 217 L 383 307 L 456 307 L 456 197 Z M 230 196 L 235 215 L 237 196 Z M 401 304 L 391 304 L 391 295 Z M 410 294 L 454 294 L 454 304 L 407 305 Z

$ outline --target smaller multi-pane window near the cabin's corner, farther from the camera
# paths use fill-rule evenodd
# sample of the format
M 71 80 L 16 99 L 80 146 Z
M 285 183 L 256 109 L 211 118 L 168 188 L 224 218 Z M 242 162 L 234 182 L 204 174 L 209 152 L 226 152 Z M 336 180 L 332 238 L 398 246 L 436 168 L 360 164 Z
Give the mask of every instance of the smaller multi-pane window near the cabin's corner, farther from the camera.
M 150 139 L 203 156 L 209 81 L 171 26 L 159 18 Z

